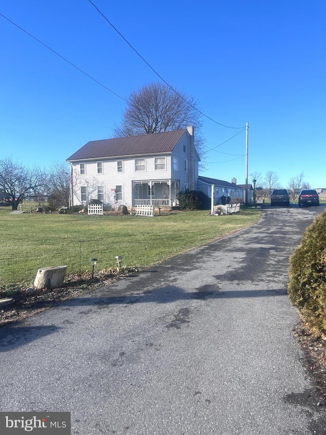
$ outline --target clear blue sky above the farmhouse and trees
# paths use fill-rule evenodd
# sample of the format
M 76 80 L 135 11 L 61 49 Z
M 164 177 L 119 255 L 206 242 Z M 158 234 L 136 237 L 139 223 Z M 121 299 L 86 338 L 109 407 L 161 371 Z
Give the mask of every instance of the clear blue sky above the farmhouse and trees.
M 305 173 L 326 188 L 324 0 L 92 0 L 171 86 L 202 112 L 201 175 L 245 181 L 275 171 L 287 187 Z M 0 158 L 48 167 L 112 135 L 126 98 L 159 81 L 88 0 L 3 0 L 0 13 Z M 249 181 L 250 177 L 249 177 Z

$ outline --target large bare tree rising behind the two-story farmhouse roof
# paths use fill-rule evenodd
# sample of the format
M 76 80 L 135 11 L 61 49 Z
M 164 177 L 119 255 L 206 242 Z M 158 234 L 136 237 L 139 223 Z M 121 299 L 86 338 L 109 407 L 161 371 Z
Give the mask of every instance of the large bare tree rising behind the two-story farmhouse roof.
M 201 114 L 194 98 L 174 92 L 160 82 L 145 85 L 128 97 L 122 121 L 115 126 L 114 136 L 136 136 L 185 129 L 193 125 L 196 149 L 203 157 L 204 138 Z M 203 163 L 202 163 L 203 165 Z

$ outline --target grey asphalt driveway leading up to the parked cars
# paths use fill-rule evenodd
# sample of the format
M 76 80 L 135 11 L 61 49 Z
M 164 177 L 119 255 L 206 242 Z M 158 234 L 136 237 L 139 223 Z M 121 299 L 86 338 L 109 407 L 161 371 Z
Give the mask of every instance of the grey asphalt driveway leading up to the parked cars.
M 68 411 L 82 435 L 324 435 L 286 292 L 320 211 L 266 208 L 250 228 L 0 328 L 0 409 Z

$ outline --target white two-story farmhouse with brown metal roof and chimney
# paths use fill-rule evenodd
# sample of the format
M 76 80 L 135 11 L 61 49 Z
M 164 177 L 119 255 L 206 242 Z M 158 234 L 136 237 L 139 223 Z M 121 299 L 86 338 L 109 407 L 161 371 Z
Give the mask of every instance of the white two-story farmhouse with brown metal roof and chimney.
M 179 190 L 197 189 L 193 127 L 90 141 L 67 159 L 71 204 L 173 206 Z

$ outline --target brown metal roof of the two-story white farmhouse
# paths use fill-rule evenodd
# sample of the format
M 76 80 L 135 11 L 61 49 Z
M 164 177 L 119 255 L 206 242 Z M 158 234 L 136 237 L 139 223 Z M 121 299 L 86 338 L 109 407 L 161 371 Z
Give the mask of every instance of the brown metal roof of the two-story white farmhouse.
M 186 131 L 187 129 L 183 129 L 149 135 L 93 140 L 74 152 L 67 161 L 171 152 Z

